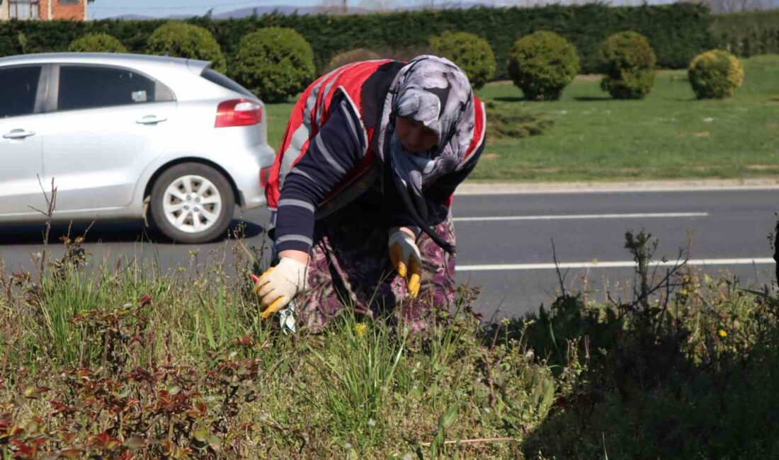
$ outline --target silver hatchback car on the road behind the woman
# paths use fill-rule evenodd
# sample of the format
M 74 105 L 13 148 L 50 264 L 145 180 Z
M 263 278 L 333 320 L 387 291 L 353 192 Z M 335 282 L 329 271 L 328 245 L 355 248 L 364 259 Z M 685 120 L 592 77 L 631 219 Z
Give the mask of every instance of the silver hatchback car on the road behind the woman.
M 46 219 L 53 179 L 55 220 L 147 217 L 184 243 L 265 205 L 273 163 L 263 103 L 183 58 L 0 58 L 0 135 L 0 222 Z

